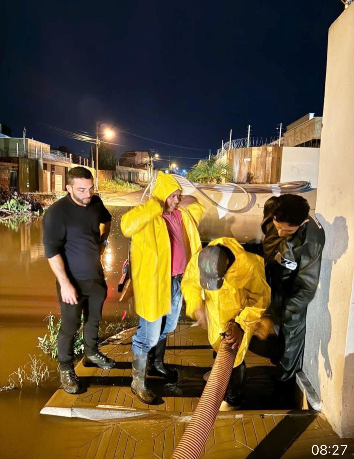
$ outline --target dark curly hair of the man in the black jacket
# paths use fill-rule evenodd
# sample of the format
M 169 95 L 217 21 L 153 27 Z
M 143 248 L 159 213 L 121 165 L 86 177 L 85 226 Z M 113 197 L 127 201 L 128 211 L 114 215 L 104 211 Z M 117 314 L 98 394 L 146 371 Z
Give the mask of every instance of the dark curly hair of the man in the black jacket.
M 308 217 L 310 206 L 302 196 L 286 194 L 271 199 L 270 211 L 278 222 L 300 226 Z

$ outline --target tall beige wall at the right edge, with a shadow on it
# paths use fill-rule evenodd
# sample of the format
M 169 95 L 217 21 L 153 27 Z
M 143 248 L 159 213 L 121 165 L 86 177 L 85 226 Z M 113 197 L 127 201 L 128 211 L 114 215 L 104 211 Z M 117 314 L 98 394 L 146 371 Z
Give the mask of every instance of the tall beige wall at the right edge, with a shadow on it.
M 326 232 L 307 316 L 304 373 L 342 437 L 354 436 L 354 4 L 329 29 L 316 216 Z

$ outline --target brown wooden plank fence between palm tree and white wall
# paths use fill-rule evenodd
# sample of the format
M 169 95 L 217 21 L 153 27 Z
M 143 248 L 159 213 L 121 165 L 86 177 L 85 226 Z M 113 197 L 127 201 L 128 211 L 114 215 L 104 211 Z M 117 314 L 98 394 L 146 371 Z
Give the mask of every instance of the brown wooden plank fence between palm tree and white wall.
M 246 183 L 247 174 L 251 173 L 254 183 L 277 183 L 282 168 L 282 147 L 259 146 L 228 150 L 227 164 L 233 170 L 235 182 Z

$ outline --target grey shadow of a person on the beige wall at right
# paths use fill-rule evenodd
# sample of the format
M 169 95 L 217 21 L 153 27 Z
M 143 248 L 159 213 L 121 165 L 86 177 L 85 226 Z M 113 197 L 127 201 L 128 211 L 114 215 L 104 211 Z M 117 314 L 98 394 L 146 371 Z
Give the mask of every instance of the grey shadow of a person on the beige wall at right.
M 304 371 L 317 395 L 321 398 L 318 380 L 318 355 L 324 358 L 326 375 L 332 379 L 332 367 L 328 356 L 328 343 L 332 335 L 332 321 L 328 310 L 329 291 L 333 264 L 336 264 L 348 248 L 348 226 L 344 217 L 336 217 L 332 224 L 321 214 L 316 218 L 325 230 L 326 244 L 322 252 L 320 283 L 315 298 L 307 310 Z

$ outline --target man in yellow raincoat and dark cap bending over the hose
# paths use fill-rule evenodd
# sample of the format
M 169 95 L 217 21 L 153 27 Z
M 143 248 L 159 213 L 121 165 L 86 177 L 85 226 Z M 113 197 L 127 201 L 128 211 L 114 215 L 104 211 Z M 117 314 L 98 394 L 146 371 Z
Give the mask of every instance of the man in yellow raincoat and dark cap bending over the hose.
M 192 257 L 181 289 L 187 315 L 207 325 L 213 349 L 218 351 L 223 333 L 238 347 L 221 410 L 239 406 L 249 342 L 253 335 L 264 339 L 272 330 L 271 321 L 262 318 L 271 294 L 263 258 L 245 252 L 235 239 L 216 239 Z

